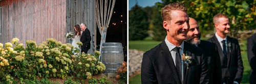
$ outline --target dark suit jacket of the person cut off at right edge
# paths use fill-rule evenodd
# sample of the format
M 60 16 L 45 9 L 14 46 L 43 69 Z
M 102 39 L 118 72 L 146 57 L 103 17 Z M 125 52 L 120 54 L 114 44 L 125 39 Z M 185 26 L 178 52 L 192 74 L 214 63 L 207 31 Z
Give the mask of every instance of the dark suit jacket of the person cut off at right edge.
M 251 66 L 250 83 L 256 83 L 256 34 L 247 40 L 247 54 Z

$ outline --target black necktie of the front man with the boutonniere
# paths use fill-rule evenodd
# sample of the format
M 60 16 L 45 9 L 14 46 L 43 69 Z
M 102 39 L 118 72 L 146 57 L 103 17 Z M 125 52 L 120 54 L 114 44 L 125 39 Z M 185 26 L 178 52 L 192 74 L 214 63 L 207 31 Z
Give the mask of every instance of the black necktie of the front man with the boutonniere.
M 176 52 L 176 59 L 175 59 L 175 63 L 176 63 L 176 69 L 178 71 L 180 80 L 182 82 L 182 72 L 181 72 L 181 57 L 180 57 L 180 47 L 175 47 L 174 51 Z

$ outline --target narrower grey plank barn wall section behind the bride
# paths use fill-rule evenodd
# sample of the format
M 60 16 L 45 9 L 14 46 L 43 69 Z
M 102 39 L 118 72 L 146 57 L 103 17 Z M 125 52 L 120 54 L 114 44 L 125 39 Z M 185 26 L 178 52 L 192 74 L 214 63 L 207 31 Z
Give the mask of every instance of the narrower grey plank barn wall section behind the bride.
M 89 53 L 95 51 L 95 0 L 67 0 L 67 31 L 74 31 L 76 24 L 86 23 L 91 32 L 91 49 Z

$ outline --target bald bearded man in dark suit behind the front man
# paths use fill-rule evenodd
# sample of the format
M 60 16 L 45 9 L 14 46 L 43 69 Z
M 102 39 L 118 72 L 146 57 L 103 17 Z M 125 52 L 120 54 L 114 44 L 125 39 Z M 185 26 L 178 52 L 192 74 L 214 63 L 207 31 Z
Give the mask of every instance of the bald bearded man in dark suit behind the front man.
M 186 41 L 204 50 L 208 63 L 209 83 L 221 83 L 221 62 L 216 44 L 200 39 L 201 32 L 194 18 L 189 17 L 189 25 Z

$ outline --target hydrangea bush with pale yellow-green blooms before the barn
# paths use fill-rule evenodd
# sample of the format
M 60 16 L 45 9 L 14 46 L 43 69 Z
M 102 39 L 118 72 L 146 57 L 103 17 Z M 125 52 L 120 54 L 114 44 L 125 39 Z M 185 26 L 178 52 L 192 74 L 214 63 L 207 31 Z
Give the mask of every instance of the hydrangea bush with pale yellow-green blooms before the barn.
M 78 43 L 81 46 L 81 43 Z M 0 79 L 12 82 L 13 77 L 35 79 L 39 77 L 64 78 L 68 75 L 90 79 L 92 75 L 102 73 L 105 65 L 99 62 L 100 53 L 76 54 L 79 49 L 71 44 L 62 44 L 54 38 L 48 38 L 41 44 L 27 40 L 26 48 L 13 38 L 12 43 L 0 43 Z

